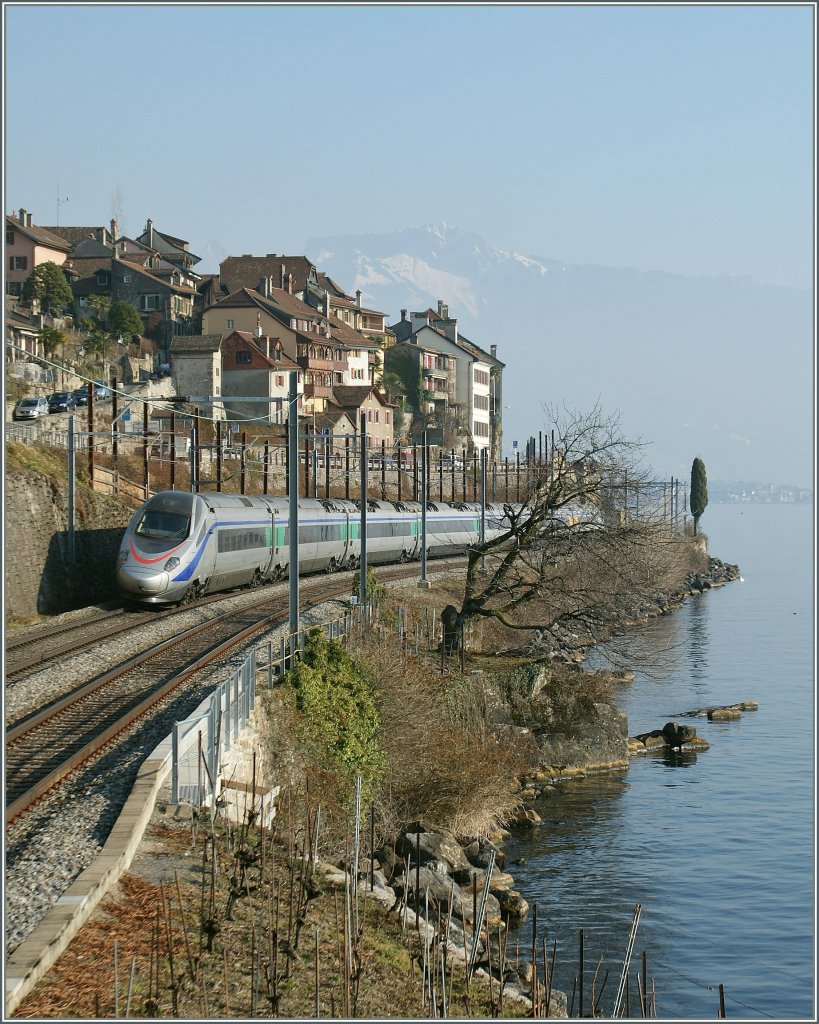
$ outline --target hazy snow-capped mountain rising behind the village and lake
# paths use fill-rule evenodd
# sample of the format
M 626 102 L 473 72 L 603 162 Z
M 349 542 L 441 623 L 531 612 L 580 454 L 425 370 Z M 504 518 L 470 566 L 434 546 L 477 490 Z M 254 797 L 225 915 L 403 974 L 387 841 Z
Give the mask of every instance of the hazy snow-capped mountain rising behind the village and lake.
M 802 486 L 812 479 L 812 297 L 748 278 L 690 278 L 497 249 L 448 224 L 310 240 L 304 252 L 396 323 L 442 300 L 506 364 L 505 450 L 545 407 L 598 399 L 648 442 L 658 474 Z

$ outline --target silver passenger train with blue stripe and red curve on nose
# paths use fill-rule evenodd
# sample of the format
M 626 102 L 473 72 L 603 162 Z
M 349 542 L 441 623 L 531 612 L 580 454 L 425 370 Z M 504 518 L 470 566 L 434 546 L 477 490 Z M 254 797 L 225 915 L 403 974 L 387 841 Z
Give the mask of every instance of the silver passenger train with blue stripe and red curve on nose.
M 123 536 L 117 563 L 120 592 L 141 604 L 173 604 L 283 580 L 290 571 L 289 516 L 287 498 L 157 494 Z M 480 540 L 480 517 L 479 503 L 428 502 L 427 554 L 464 553 Z M 504 528 L 503 506 L 487 504 L 485 539 Z M 300 498 L 299 573 L 356 568 L 360 529 L 356 502 Z M 420 502 L 368 502 L 368 564 L 420 559 L 422 544 Z

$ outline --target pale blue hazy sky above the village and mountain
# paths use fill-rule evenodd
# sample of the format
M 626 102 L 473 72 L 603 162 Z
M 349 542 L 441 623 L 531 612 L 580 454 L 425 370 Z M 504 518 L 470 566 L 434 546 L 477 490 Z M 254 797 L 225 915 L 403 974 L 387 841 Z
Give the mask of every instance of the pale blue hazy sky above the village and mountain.
M 814 17 L 8 3 L 5 211 L 118 212 L 132 236 L 152 217 L 200 255 L 446 221 L 569 263 L 807 288 Z

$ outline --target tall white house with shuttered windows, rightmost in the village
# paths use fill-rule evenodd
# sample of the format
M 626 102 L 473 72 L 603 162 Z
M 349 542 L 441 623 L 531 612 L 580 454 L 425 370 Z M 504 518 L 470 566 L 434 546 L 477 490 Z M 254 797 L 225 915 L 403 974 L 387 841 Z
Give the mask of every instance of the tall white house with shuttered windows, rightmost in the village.
M 437 310 L 424 309 L 410 317 L 402 309 L 392 331 L 396 351 L 392 356 L 388 353 L 387 369 L 405 356 L 402 346 L 415 346 L 423 376 L 422 413 L 432 417 L 441 432 L 448 420 L 470 450 L 487 449 L 491 459 L 500 459 L 505 364 L 498 358 L 498 346 L 491 345 L 487 352 L 466 338 L 441 301 Z

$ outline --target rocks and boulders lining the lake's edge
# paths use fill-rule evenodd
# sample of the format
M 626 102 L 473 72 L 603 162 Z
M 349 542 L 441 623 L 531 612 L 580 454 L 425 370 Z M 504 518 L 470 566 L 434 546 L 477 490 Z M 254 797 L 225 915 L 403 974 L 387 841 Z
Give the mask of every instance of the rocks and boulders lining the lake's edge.
M 657 594 L 650 601 L 612 615 L 610 632 L 621 632 L 670 614 L 687 598 L 723 587 L 739 577 L 737 565 L 709 557 L 706 572 L 689 573 L 677 590 Z M 588 638 L 585 640 L 565 632 L 549 651 L 549 657 L 583 672 L 580 663 L 592 645 L 593 641 Z M 538 653 L 543 658 L 543 652 Z M 628 684 L 634 679 L 634 673 L 628 670 L 586 675 L 599 675 L 619 684 Z M 527 688 L 528 698 L 543 691 L 547 676 L 548 670 L 542 668 Z M 687 712 L 685 717 L 730 720 L 757 707 L 755 701 L 748 700 Z M 627 769 L 629 759 L 639 754 L 661 750 L 708 750 L 709 744 L 698 737 L 696 729 L 690 725 L 669 722 L 651 732 L 630 736 L 627 717 L 611 705 L 595 703 L 586 711 L 587 720 L 576 724 L 571 736 L 535 735 L 524 727 L 504 721 L 495 723 L 500 735 L 526 748 L 530 764 L 530 770 L 521 781 L 518 810 L 508 822 L 510 827 L 536 827 L 541 817 L 532 804 L 554 792 L 560 781 Z M 418 925 L 425 929 L 428 941 L 445 941 L 447 949 L 465 961 L 473 942 L 475 907 L 483 901 L 485 910 L 479 926 L 485 932 L 475 949 L 475 973 L 499 983 L 504 998 L 518 1000 L 529 1010 L 535 1001 L 545 1007 L 548 994 L 546 1015 L 567 1017 L 566 993 L 547 992 L 545 980 L 537 977 L 531 963 L 503 962 L 503 931 L 520 927 L 529 912 L 528 903 L 514 888 L 513 877 L 504 870 L 505 835 L 509 833 L 501 831 L 491 839 L 459 840 L 445 829 L 417 822 L 401 833 L 393 845 L 375 851 L 373 862 L 368 862 L 359 872 L 361 891 L 396 913 L 404 927 Z M 317 869 L 328 881 L 339 884 L 344 881 L 344 864 L 317 865 Z

